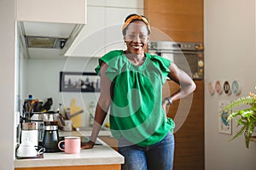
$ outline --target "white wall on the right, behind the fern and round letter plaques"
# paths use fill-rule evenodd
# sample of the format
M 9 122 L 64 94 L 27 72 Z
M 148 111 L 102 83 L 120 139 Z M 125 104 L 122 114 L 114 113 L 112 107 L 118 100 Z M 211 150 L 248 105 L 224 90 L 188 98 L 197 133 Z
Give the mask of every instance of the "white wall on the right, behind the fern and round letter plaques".
M 241 95 L 254 91 L 255 1 L 205 0 L 205 156 L 207 170 L 253 170 L 256 143 L 247 150 L 243 138 L 232 142 L 230 135 L 218 132 L 218 101 L 233 100 L 234 94 L 207 93 L 207 83 L 238 80 Z M 233 122 L 236 133 L 236 122 Z

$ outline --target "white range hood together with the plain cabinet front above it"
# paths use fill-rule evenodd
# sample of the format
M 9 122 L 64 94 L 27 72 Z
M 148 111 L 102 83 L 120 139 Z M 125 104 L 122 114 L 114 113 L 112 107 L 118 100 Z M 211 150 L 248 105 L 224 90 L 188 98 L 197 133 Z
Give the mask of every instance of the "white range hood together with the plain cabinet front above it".
M 63 59 L 86 23 L 85 12 L 84 0 L 17 1 L 17 27 L 26 57 Z

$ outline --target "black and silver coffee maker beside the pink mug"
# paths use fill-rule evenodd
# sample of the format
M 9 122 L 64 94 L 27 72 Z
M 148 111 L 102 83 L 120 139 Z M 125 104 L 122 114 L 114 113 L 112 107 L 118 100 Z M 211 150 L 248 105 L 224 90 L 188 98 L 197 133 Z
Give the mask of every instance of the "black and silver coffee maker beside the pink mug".
M 59 133 L 58 122 L 60 115 L 57 112 L 49 111 L 43 113 L 44 121 L 44 137 L 42 146 L 45 148 L 45 152 L 58 152 Z

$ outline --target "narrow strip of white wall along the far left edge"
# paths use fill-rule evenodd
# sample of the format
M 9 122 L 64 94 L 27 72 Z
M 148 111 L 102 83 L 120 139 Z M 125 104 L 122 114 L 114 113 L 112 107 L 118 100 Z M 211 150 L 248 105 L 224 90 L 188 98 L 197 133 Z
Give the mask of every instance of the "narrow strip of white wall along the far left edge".
M 14 165 L 15 115 L 15 0 L 0 1 L 0 169 Z

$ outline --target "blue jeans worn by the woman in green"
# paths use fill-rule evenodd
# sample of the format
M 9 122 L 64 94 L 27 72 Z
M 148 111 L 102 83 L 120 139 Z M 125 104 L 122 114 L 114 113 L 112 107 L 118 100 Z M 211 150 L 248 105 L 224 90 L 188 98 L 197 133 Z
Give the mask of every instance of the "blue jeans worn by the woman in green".
M 150 146 L 128 144 L 119 139 L 119 153 L 125 157 L 122 170 L 172 170 L 174 156 L 174 136 L 167 133 L 166 137 Z

